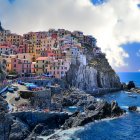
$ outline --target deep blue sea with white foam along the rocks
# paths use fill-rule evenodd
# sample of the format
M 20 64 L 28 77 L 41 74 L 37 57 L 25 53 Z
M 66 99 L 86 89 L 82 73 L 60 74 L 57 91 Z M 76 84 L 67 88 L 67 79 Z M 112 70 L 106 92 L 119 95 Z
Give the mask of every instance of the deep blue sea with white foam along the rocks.
M 121 82 L 134 81 L 140 87 L 140 73 L 118 73 Z M 140 95 L 137 98 L 128 96 L 124 91 L 101 96 L 108 102 L 116 100 L 127 112 L 125 115 L 104 119 L 87 124 L 84 127 L 58 132 L 61 140 L 140 140 Z M 139 112 L 129 112 L 128 106 L 138 106 Z

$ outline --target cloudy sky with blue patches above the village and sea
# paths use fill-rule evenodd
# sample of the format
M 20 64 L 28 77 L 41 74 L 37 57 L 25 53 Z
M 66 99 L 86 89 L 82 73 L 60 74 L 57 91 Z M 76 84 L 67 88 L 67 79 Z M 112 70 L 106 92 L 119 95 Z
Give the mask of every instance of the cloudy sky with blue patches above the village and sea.
M 140 71 L 140 0 L 0 0 L 5 29 L 93 35 L 116 71 Z

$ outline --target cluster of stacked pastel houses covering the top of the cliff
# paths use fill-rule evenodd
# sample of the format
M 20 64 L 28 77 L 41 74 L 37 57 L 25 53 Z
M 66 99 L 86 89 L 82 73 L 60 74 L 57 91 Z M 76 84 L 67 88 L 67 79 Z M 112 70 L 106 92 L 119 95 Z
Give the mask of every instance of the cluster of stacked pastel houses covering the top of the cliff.
M 50 29 L 21 36 L 0 30 L 0 60 L 6 60 L 7 73 L 19 76 L 46 74 L 62 78 L 77 59 L 86 65 L 86 47 L 94 54 L 101 53 L 96 39 L 80 31 Z

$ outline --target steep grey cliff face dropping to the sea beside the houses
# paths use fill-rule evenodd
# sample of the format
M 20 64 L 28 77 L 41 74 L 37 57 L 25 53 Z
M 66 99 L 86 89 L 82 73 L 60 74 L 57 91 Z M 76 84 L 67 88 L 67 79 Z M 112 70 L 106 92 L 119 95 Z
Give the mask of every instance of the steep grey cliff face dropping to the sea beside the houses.
M 97 88 L 120 88 L 120 79 L 115 71 L 109 65 L 104 54 L 93 54 L 87 49 L 86 61 L 83 65 L 77 60 L 75 64 L 71 64 L 66 74 L 66 81 L 70 86 L 93 92 Z

